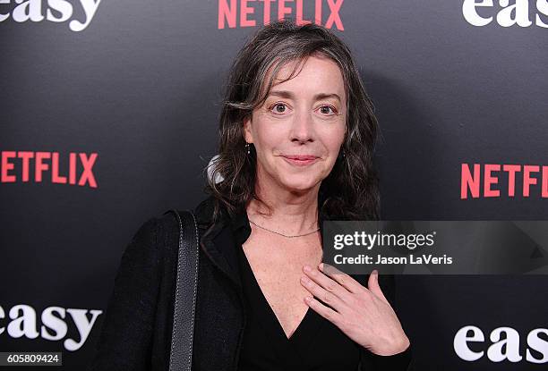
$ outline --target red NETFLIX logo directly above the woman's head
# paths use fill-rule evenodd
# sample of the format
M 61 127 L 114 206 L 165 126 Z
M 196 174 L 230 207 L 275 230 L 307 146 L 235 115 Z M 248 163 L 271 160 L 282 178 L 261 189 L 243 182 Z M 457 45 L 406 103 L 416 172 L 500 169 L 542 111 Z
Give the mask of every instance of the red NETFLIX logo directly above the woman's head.
M 295 19 L 297 25 L 315 23 L 326 29 L 345 30 L 340 19 L 344 0 L 218 0 L 218 30 L 269 24 L 272 18 Z M 312 10 L 304 12 L 304 4 Z M 329 13 L 322 13 L 325 8 Z M 322 21 L 325 20 L 325 23 Z

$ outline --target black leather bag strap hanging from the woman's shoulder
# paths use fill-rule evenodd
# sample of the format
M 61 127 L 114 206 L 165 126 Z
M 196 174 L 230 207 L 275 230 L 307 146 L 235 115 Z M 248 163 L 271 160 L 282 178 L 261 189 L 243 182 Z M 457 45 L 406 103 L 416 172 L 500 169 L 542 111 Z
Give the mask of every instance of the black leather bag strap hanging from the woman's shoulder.
M 179 252 L 173 333 L 169 371 L 191 371 L 193 364 L 193 331 L 198 289 L 198 225 L 193 212 L 173 212 L 179 222 Z

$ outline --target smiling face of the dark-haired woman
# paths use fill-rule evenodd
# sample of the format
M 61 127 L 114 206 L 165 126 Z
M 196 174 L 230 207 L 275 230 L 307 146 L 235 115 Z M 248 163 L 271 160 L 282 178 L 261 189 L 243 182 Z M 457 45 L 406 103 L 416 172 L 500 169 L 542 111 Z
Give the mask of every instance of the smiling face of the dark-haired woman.
M 257 152 L 257 180 L 267 190 L 319 189 L 345 136 L 347 97 L 337 63 L 311 56 L 296 76 L 278 83 L 294 65 L 279 70 L 264 104 L 244 122 L 245 141 Z

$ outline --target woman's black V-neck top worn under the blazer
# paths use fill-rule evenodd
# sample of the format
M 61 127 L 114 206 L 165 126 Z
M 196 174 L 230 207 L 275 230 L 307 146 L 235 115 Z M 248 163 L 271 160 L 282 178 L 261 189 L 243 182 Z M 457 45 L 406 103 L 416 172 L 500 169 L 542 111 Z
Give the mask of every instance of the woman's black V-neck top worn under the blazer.
M 364 350 L 312 308 L 308 308 L 302 322 L 287 339 L 278 318 L 261 291 L 242 248 L 242 244 L 251 234 L 247 213 L 241 212 L 236 215 L 232 221 L 232 228 L 235 233 L 238 268 L 243 283 L 245 312 L 248 318 L 244 328 L 238 370 L 355 371 L 358 369 L 362 354 L 367 352 L 372 355 L 372 353 Z M 409 350 L 403 353 L 408 352 Z M 405 370 L 409 359 L 403 353 L 390 357 L 372 356 L 382 360 L 391 358 L 390 367 L 396 366 L 394 358 L 401 358 L 398 368 L 390 369 Z M 363 367 L 363 369 L 372 370 L 377 367 Z

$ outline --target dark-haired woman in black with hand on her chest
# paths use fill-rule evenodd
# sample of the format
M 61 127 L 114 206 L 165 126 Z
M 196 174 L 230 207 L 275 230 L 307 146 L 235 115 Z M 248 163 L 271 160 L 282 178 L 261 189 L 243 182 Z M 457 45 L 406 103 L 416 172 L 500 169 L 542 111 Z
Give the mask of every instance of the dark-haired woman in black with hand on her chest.
M 321 222 L 378 217 L 377 123 L 353 58 L 321 26 L 278 21 L 228 77 L 210 197 L 195 208 L 196 370 L 404 370 L 392 276 L 328 274 Z M 122 258 L 92 370 L 167 370 L 178 223 Z

